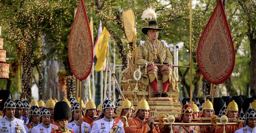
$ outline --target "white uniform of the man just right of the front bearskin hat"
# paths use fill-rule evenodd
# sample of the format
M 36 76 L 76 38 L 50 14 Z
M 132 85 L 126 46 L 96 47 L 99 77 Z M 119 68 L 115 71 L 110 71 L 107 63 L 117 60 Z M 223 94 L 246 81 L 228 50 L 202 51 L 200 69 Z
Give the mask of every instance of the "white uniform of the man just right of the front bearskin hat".
M 68 123 L 67 128 L 73 130 L 74 133 L 79 133 L 79 126 L 76 125 L 77 121 L 72 121 L 71 123 Z M 91 132 L 91 126 L 88 123 L 83 122 L 81 128 L 81 133 L 90 133 Z

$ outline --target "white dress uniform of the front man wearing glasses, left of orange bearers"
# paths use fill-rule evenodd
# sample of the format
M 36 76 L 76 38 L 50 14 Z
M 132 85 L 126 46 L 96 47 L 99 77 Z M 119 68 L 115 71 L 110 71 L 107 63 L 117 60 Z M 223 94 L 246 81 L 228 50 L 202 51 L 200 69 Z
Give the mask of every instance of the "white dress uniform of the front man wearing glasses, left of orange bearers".
M 118 122 L 115 123 L 117 124 Z M 92 124 L 91 133 L 112 133 L 114 131 L 113 124 L 114 119 L 110 122 L 105 121 L 104 118 L 94 121 Z M 117 133 L 124 133 L 124 130 L 120 131 L 118 129 Z

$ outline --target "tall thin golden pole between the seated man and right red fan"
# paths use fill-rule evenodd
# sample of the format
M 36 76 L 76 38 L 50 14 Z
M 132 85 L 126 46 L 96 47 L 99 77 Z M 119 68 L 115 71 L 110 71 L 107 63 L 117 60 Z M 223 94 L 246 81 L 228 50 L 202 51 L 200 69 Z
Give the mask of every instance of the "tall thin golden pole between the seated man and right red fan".
M 190 103 L 192 103 L 192 0 L 190 2 Z

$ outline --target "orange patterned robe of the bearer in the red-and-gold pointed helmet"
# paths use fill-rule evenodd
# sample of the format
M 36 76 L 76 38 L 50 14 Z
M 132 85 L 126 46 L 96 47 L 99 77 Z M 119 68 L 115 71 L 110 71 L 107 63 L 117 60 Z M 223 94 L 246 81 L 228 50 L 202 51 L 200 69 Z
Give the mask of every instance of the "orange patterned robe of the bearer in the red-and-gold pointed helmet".
M 183 121 L 181 121 L 183 123 Z M 194 133 L 200 133 L 200 127 L 199 126 L 184 126 L 190 133 L 193 130 Z M 173 133 L 187 133 L 186 130 L 179 125 L 172 125 L 172 131 Z

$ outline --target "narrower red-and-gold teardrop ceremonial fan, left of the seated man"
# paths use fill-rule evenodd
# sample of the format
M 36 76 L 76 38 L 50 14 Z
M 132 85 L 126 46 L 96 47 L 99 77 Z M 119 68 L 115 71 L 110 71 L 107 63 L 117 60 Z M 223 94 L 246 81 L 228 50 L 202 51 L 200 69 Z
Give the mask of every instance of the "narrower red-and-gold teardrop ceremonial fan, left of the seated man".
M 75 77 L 86 79 L 92 68 L 93 45 L 90 26 L 83 0 L 79 0 L 76 16 L 69 35 L 69 63 Z

